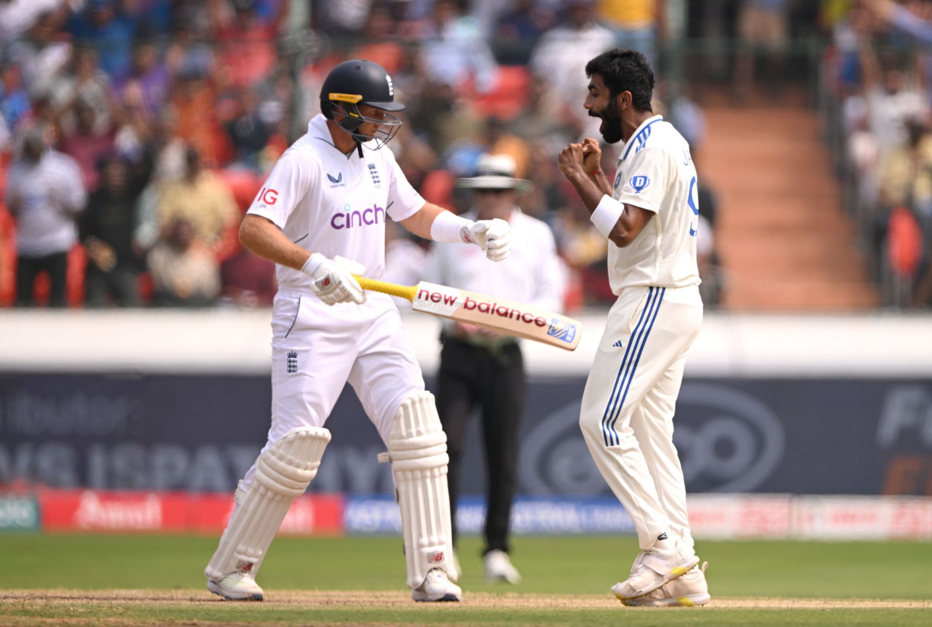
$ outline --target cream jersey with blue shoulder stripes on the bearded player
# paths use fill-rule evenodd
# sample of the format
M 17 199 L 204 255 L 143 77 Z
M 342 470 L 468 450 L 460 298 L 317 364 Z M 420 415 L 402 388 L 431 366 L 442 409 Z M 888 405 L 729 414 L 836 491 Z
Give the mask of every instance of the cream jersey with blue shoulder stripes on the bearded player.
M 609 242 L 612 292 L 699 284 L 698 194 L 689 143 L 663 116 L 645 120 L 618 158 L 612 198 L 655 215 L 628 246 Z

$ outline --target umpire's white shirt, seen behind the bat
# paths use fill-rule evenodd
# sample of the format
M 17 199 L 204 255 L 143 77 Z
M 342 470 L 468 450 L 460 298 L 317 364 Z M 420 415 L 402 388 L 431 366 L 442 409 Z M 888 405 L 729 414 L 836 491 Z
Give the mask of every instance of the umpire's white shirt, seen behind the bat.
M 474 211 L 463 214 L 476 220 Z M 498 263 L 473 244 L 434 244 L 424 279 L 551 311 L 563 309 L 564 269 L 550 227 L 514 208 L 512 252 Z M 444 320 L 446 325 L 452 322 Z

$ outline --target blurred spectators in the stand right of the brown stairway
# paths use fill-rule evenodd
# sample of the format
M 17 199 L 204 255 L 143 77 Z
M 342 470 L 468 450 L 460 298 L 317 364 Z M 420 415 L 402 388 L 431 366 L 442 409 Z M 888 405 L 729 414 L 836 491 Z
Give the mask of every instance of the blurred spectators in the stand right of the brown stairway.
M 827 75 L 846 204 L 884 305 L 932 306 L 932 2 L 836 4 Z

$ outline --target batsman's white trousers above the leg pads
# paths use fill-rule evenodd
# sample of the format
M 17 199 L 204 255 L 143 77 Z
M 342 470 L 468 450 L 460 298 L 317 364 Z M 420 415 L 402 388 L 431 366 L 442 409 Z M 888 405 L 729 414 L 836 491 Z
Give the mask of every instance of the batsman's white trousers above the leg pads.
M 272 309 L 272 424 L 263 451 L 295 427 L 323 427 L 349 385 L 385 443 L 399 405 L 424 389 L 391 296 L 324 305 L 312 293 L 280 291 Z M 246 472 L 241 487 L 253 480 Z

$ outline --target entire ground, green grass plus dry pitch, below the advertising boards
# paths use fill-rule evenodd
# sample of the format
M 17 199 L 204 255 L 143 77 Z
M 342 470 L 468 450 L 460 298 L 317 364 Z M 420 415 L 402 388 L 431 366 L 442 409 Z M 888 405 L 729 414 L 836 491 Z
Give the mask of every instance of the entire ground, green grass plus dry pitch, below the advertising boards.
M 457 624 L 457 625 L 928 625 L 932 605 L 907 607 L 747 607 L 729 597 L 797 599 L 932 599 L 928 543 L 701 542 L 710 564 L 714 599 L 702 608 L 624 608 L 610 585 L 624 579 L 637 552 L 634 538 L 516 538 L 513 559 L 520 586 L 489 585 L 482 578 L 477 538 L 459 551 L 464 603 L 434 607 L 405 602 L 404 558 L 398 538 L 279 538 L 259 582 L 265 604 L 213 603 L 201 574 L 216 538 L 190 536 L 0 536 L 0 624 Z M 81 594 L 9 593 L 24 589 L 98 591 Z M 112 589 L 136 593 L 131 603 Z M 156 591 L 175 591 L 157 593 Z M 276 603 L 276 591 L 280 603 Z M 284 591 L 288 591 L 285 593 Z M 357 592 L 300 597 L 295 591 Z M 470 593 L 474 603 L 470 605 Z M 528 594 L 522 597 L 520 594 Z M 26 596 L 23 596 L 26 594 Z M 161 596 L 159 596 L 159 594 Z M 173 594 L 171 598 L 166 594 Z M 297 596 L 295 596 L 297 594 Z M 534 594 L 542 596 L 533 596 Z M 61 598 L 54 598 L 54 597 Z M 578 601 L 578 602 L 577 602 Z M 336 602 L 336 603 L 335 603 Z M 556 605 L 553 605 L 553 604 Z M 496 607 L 496 606 L 501 607 Z M 69 622 L 73 621 L 73 622 Z M 108 623 L 109 624 L 109 623 Z

